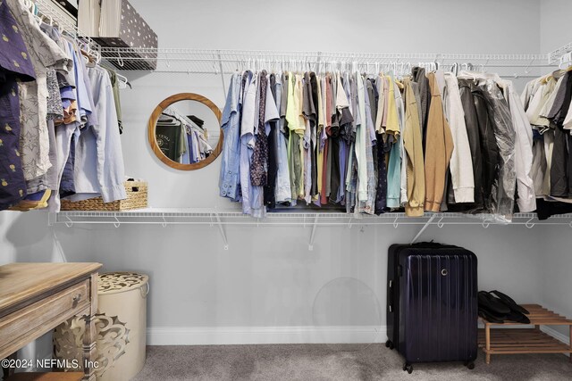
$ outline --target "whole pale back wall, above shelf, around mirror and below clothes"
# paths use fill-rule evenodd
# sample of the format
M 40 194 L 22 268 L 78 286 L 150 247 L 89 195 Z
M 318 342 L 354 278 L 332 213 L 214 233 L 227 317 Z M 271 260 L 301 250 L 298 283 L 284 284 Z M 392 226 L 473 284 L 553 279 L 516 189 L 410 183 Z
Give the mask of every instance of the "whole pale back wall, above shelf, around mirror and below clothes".
M 541 45 L 538 0 L 478 4 L 452 0 L 295 0 L 288 4 L 132 0 L 131 4 L 156 30 L 162 47 L 533 54 L 539 53 Z M 171 170 L 147 145 L 147 118 L 156 104 L 184 91 L 206 95 L 222 107 L 220 78 L 127 75 L 133 89 L 122 91 L 126 172 L 149 181 L 150 205 L 236 207 L 217 195 L 220 160 L 203 170 Z M 46 228 L 45 214 L 22 214 L 8 228 L 2 222 L 0 261 L 61 258 L 52 230 Z M 223 251 L 216 228 L 208 227 L 58 226 L 54 231 L 68 261 L 101 261 L 105 270 L 149 274 L 148 324 L 159 332 L 152 338 L 156 343 L 182 343 L 185 340 L 177 341 L 172 333 L 189 332 L 193 327 L 376 325 L 380 322 L 375 308 L 381 309 L 384 324 L 387 247 L 408 242 L 417 228 L 366 227 L 363 233 L 358 227 L 318 228 L 313 252 L 307 250 L 309 228 L 303 227 L 228 227 L 229 251 Z M 480 288 L 501 289 L 525 302 L 543 296 L 538 253 L 543 250 L 539 237 L 545 230 L 432 227 L 422 238 L 475 251 Z M 373 292 L 374 299 L 364 297 L 356 311 L 339 317 L 345 300 L 335 300 L 328 287 L 340 277 L 356 279 L 345 283 L 348 295 Z M 325 299 L 320 299 L 323 295 Z M 178 330 L 163 335 L 162 327 Z M 195 337 L 189 335 L 189 340 Z M 297 337 L 304 341 L 306 336 Z M 201 340 L 208 342 L 209 338 Z

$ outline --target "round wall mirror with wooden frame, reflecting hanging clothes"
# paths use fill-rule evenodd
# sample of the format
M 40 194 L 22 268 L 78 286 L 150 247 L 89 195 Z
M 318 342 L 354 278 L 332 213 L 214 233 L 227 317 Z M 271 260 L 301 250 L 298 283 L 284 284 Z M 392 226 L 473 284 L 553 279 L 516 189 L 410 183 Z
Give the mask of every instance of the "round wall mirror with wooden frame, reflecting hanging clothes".
M 202 95 L 169 96 L 156 106 L 147 129 L 153 152 L 176 170 L 203 168 L 223 149 L 221 111 Z

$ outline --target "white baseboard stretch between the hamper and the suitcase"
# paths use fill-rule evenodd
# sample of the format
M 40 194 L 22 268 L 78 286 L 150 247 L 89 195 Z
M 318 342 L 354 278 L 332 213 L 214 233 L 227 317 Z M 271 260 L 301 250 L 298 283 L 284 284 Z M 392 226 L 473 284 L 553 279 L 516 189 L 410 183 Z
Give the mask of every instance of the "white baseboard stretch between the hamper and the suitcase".
M 383 343 L 386 327 L 150 327 L 147 345 Z

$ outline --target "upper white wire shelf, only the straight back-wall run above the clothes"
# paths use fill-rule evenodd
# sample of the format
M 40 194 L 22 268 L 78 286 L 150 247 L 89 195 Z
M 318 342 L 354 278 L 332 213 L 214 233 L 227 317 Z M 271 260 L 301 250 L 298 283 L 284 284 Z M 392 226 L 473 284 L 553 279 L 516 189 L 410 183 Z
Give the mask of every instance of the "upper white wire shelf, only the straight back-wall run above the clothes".
M 451 66 L 454 63 L 472 63 L 480 69 L 492 68 L 505 71 L 514 68 L 552 66 L 546 54 L 376 54 L 349 52 L 302 52 L 265 50 L 214 50 L 183 48 L 117 48 L 102 47 L 102 55 L 121 70 L 149 70 L 146 60 L 156 62 L 156 72 L 180 72 L 189 74 L 230 74 L 253 66 L 275 70 L 334 70 L 356 65 L 358 70 L 391 70 L 391 65 L 411 65 L 438 62 Z M 509 72 L 513 75 L 514 71 Z

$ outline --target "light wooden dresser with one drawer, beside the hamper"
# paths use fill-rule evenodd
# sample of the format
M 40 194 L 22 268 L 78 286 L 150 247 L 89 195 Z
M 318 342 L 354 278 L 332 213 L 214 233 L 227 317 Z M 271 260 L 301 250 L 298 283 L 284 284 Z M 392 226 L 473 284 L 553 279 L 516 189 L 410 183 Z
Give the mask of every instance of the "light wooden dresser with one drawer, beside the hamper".
M 70 319 L 86 320 L 85 380 L 96 379 L 97 270 L 100 263 L 10 263 L 0 266 L 0 359 Z M 89 362 L 91 361 L 91 362 Z

